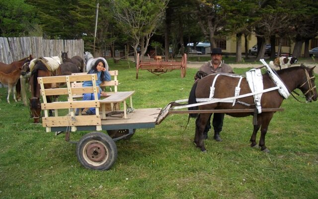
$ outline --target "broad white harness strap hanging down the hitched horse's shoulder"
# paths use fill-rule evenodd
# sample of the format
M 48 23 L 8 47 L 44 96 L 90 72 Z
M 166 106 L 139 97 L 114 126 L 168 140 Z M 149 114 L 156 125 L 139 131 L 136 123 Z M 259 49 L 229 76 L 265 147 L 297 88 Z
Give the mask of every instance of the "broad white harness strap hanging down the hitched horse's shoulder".
M 254 95 L 254 102 L 258 113 L 262 112 L 262 107 L 260 105 L 260 99 L 262 97 L 263 92 L 263 77 L 260 69 L 251 69 L 246 72 L 246 80 L 248 82 L 248 86 L 252 93 L 257 93 Z

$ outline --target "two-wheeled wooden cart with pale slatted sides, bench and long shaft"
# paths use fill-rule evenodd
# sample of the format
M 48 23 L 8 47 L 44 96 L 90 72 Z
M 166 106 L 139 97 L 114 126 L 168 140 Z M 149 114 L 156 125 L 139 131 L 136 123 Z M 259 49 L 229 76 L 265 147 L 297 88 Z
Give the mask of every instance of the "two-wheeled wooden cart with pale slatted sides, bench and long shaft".
M 47 132 L 66 132 L 65 139 L 70 141 L 71 132 L 91 131 L 80 138 L 76 147 L 78 161 L 87 169 L 108 170 L 117 159 L 117 147 L 115 141 L 131 138 L 138 128 L 154 128 L 168 114 L 194 113 L 189 110 L 172 110 L 171 103 L 165 108 L 141 108 L 134 109 L 132 106 L 132 95 L 134 92 L 114 92 L 104 100 L 75 100 L 78 95 L 92 93 L 97 99 L 98 87 L 95 84 L 96 74 L 41 77 L 38 82 L 41 86 L 43 102 L 41 108 L 44 110 L 42 117 L 43 127 Z M 92 81 L 92 87 L 72 87 L 74 82 Z M 45 89 L 45 84 L 66 83 L 67 88 Z M 47 97 L 53 95 L 64 101 L 48 103 Z M 105 104 L 120 103 L 126 107 L 126 100 L 130 100 L 130 107 L 125 109 L 107 110 Z M 95 107 L 94 115 L 75 115 L 76 108 Z M 111 107 L 114 107 L 111 106 Z M 118 106 L 120 107 L 120 105 Z M 55 115 L 49 117 L 49 109 L 54 109 Z M 281 111 L 281 108 L 262 109 L 262 111 Z M 254 112 L 257 109 L 240 110 L 195 110 L 197 113 L 214 112 Z M 114 117 L 114 114 L 121 117 Z M 107 131 L 103 133 L 102 130 Z M 70 141 L 71 142 L 71 141 Z M 74 143 L 74 142 L 73 142 Z

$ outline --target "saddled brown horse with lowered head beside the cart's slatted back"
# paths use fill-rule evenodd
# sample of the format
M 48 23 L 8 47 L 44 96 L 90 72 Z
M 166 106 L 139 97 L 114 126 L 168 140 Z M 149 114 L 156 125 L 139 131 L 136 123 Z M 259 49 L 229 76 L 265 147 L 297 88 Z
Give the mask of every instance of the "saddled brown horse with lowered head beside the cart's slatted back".
M 40 84 L 38 84 L 38 77 L 51 77 L 51 76 L 59 76 L 61 75 L 61 68 L 58 67 L 56 70 L 52 71 L 48 69 L 48 67 L 41 61 L 36 61 L 34 67 L 31 71 L 31 76 L 29 80 L 29 84 L 31 86 L 31 98 L 30 101 L 30 112 L 31 116 L 34 119 L 34 123 L 40 122 L 41 116 L 41 102 L 40 102 Z M 58 88 L 59 85 L 56 83 L 45 84 L 45 89 Z M 47 101 L 52 102 L 52 96 L 47 97 Z M 50 116 L 52 115 L 52 110 L 49 111 Z

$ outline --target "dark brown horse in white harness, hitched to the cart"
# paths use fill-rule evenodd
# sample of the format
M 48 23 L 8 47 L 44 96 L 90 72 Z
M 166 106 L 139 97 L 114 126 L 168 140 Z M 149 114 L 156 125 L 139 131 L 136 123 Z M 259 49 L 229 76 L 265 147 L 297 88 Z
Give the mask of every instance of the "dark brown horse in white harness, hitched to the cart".
M 317 89 L 315 86 L 315 76 L 314 76 L 314 68 L 308 68 L 305 66 L 291 67 L 283 70 L 277 71 L 278 76 L 284 82 L 286 88 L 289 92 L 294 91 L 295 89 L 300 89 L 302 93 L 306 96 L 307 101 L 316 101 L 317 100 Z M 201 80 L 198 80 L 194 83 L 188 103 L 193 104 L 197 103 L 196 98 L 209 98 L 210 95 L 210 87 L 213 83 L 215 74 L 208 75 Z M 274 82 L 271 80 L 268 73 L 262 75 L 263 78 L 263 89 L 269 89 L 276 87 Z M 239 78 L 220 75 L 215 83 L 215 93 L 214 98 L 216 99 L 224 99 L 230 98 L 234 96 L 235 89 L 238 85 Z M 243 78 L 240 84 L 240 93 L 239 95 L 249 94 L 251 93 L 246 78 Z M 249 107 L 244 105 L 250 104 Z M 261 107 L 262 108 L 279 108 L 282 104 L 284 98 L 279 94 L 278 90 L 266 92 L 262 94 L 261 97 Z M 209 109 L 246 109 L 246 108 L 255 108 L 254 98 L 253 96 L 239 98 L 236 100 L 234 106 L 232 106 L 232 102 L 215 102 L 204 104 L 200 106 L 189 107 L 189 110 L 209 110 Z M 265 135 L 267 132 L 267 128 L 269 122 L 271 121 L 273 114 L 275 112 L 261 112 L 257 114 L 257 124 L 254 125 L 253 133 L 250 138 L 250 146 L 256 147 L 256 134 L 260 129 L 261 135 L 259 139 L 259 147 L 261 151 L 269 152 L 267 147 L 265 146 Z M 201 151 L 206 151 L 204 142 L 203 142 L 203 131 L 205 129 L 206 123 L 209 119 L 211 113 L 190 113 L 190 117 L 197 117 L 196 120 L 196 128 L 195 128 L 195 136 L 194 143 L 197 147 L 201 149 Z M 235 112 L 235 113 L 226 113 L 230 116 L 234 117 L 245 117 L 248 115 L 252 115 L 250 112 Z

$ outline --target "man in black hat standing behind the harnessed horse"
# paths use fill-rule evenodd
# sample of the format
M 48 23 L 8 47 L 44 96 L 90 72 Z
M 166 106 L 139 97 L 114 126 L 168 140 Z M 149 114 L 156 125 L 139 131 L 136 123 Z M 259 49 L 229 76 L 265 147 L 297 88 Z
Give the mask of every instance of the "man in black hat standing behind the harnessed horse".
M 199 68 L 199 71 L 202 71 L 208 75 L 213 73 L 233 73 L 233 69 L 231 68 L 231 66 L 229 66 L 228 64 L 222 63 L 222 55 L 223 53 L 221 48 L 212 48 L 211 61 L 206 64 L 203 64 Z M 211 116 L 212 114 L 210 115 L 210 118 L 203 132 L 204 139 L 208 139 L 208 131 L 211 128 L 211 123 L 210 123 Z M 212 125 L 214 128 L 213 138 L 218 142 L 222 141 L 220 137 L 220 132 L 222 131 L 223 119 L 224 119 L 224 113 L 213 114 L 213 120 L 212 120 Z

